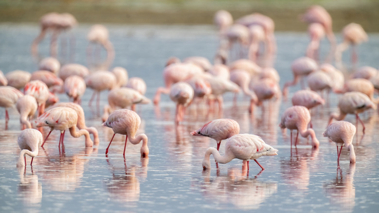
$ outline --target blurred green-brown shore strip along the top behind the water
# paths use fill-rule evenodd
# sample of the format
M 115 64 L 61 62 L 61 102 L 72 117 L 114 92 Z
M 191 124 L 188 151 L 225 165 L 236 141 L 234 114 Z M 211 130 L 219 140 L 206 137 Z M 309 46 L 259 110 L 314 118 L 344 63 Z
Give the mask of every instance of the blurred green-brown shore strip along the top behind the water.
M 48 12 L 68 12 L 79 23 L 213 24 L 219 9 L 233 18 L 259 12 L 274 19 L 276 31 L 305 31 L 298 16 L 312 4 L 331 15 L 333 31 L 350 23 L 379 32 L 379 0 L 0 0 L 0 22 L 39 22 Z

